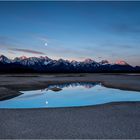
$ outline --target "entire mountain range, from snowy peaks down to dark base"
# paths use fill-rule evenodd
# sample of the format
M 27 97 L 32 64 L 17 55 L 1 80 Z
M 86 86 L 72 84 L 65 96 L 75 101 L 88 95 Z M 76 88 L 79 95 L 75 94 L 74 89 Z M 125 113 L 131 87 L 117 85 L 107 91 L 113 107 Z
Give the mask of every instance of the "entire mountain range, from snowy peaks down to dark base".
M 0 55 L 1 73 L 80 73 L 80 72 L 140 72 L 140 66 L 131 66 L 121 60 L 109 63 L 107 60 L 96 62 L 92 59 L 84 61 L 53 60 L 47 56 L 43 57 L 16 57 L 9 59 Z

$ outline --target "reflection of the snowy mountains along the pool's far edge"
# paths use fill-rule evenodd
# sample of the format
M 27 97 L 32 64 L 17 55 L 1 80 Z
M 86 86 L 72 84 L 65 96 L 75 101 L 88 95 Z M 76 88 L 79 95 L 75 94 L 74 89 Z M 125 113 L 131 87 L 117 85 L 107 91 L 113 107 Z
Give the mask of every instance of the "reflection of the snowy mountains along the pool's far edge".
M 73 83 L 49 85 L 47 89 L 51 89 L 54 87 L 63 89 L 63 88 L 79 87 L 79 86 L 89 89 L 89 88 L 93 88 L 94 86 L 96 86 L 98 84 L 99 84 L 98 82 L 73 82 Z

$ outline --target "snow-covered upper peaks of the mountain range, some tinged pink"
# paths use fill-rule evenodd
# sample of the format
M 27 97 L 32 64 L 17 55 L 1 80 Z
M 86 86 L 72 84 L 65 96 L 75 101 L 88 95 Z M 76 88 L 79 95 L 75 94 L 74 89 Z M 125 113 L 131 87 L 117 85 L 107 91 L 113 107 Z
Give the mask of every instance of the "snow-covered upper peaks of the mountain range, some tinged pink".
M 55 65 L 59 65 L 59 64 L 64 64 L 64 65 L 73 65 L 73 66 L 79 66 L 79 65 L 94 65 L 94 66 L 100 66 L 100 65 L 112 65 L 109 63 L 108 60 L 102 60 L 101 62 L 96 62 L 90 58 L 85 59 L 84 61 L 78 62 L 75 60 L 72 61 L 68 61 L 68 60 L 63 60 L 63 59 L 59 59 L 59 60 L 52 60 L 50 58 L 48 58 L 47 56 L 40 56 L 40 57 L 26 57 L 26 56 L 21 56 L 21 57 L 16 57 L 13 60 L 8 59 L 6 56 L 4 55 L 0 55 L 0 62 L 3 63 L 20 63 L 22 65 L 48 65 L 49 63 L 53 63 Z M 129 65 L 127 62 L 123 61 L 123 60 L 118 60 L 114 63 L 115 65 Z

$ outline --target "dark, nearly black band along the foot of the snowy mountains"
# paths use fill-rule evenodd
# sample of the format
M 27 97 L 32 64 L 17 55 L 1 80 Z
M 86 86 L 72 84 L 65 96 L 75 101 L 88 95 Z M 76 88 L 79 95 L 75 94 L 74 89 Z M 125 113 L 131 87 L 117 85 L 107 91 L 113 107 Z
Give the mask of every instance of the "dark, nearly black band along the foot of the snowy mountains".
M 94 67 L 92 65 L 84 66 L 24 66 L 21 64 L 3 64 L 0 63 L 0 73 L 140 73 L 140 67 L 132 67 L 130 65 L 104 65 Z

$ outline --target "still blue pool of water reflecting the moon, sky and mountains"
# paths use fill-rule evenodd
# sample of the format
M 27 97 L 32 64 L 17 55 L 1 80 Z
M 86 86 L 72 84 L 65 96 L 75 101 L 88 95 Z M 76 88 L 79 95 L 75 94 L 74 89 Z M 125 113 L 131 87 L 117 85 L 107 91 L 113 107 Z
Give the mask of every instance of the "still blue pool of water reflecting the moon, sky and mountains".
M 61 88 L 52 91 L 52 88 Z M 50 85 L 43 90 L 21 91 L 23 94 L 0 101 L 0 108 L 51 108 L 98 105 L 110 102 L 140 101 L 140 92 L 106 88 L 100 83 Z

